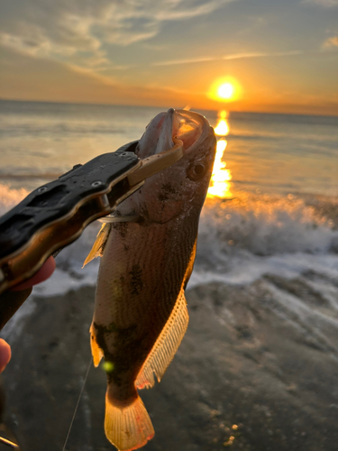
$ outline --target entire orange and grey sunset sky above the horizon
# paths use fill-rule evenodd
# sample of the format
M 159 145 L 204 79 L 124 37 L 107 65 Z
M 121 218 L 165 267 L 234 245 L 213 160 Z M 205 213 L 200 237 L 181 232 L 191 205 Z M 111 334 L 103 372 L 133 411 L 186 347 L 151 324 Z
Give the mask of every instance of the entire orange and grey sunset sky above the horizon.
M 338 115 L 338 0 L 0 5 L 3 99 Z

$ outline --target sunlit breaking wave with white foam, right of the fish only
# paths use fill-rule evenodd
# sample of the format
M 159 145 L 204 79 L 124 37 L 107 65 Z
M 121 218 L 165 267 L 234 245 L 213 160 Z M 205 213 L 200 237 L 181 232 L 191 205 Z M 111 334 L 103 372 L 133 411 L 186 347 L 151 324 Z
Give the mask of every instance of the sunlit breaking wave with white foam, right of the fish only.
M 207 200 L 187 288 L 211 281 L 249 284 L 265 274 L 292 279 L 309 271 L 337 280 L 337 240 L 333 220 L 301 198 L 242 193 Z

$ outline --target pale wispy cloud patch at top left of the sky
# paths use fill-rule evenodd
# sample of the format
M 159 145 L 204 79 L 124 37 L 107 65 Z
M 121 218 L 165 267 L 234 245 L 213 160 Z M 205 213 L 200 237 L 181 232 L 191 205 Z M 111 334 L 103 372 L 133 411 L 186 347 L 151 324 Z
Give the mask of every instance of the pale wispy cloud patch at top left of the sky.
M 0 45 L 38 58 L 112 65 L 105 44 L 130 45 L 155 37 L 163 23 L 213 13 L 233 0 L 15 0 L 0 16 Z

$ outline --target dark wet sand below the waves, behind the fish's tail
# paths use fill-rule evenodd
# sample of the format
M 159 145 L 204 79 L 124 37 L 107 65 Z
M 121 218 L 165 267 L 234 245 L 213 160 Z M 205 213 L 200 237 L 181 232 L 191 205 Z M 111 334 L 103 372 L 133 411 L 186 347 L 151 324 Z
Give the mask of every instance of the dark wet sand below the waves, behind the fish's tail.
M 338 449 L 338 336 L 328 326 L 327 336 L 314 337 L 306 321 L 283 311 L 273 294 L 280 286 L 332 313 L 303 281 L 276 276 L 187 291 L 187 335 L 162 382 L 141 391 L 156 432 L 143 449 Z M 90 359 L 93 303 L 91 287 L 32 298 L 23 307 L 31 313 L 17 320 L 19 334 L 8 338 L 5 413 L 23 451 L 62 449 Z M 67 450 L 114 449 L 104 407 L 105 373 L 92 366 Z

